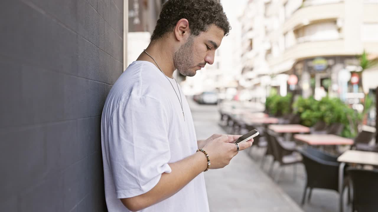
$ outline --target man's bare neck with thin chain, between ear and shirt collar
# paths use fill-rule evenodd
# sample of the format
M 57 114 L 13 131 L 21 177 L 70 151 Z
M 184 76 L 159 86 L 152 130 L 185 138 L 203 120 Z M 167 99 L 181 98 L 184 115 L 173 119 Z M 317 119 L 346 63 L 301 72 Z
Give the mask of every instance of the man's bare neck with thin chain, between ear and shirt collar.
M 147 47 L 146 52 L 155 59 L 156 63 L 160 66 L 161 71 L 163 71 L 167 77 L 173 78 L 173 72 L 176 68 L 173 62 L 174 55 L 171 46 L 166 45 L 164 40 L 154 41 Z M 159 68 L 155 61 L 147 55 L 146 52 L 142 52 L 136 60 L 149 61 Z

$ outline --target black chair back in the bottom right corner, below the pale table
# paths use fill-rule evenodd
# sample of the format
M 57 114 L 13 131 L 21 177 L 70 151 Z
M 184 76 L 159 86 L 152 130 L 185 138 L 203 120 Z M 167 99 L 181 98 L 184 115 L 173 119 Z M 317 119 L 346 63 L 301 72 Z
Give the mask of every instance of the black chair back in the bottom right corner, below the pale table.
M 349 168 L 347 173 L 353 184 L 353 208 L 359 212 L 378 209 L 378 170 Z

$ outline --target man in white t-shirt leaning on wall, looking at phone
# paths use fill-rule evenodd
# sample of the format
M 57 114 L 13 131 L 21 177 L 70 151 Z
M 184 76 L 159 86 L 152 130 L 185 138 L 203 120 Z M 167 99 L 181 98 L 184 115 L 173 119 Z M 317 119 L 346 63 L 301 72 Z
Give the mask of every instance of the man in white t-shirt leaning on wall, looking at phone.
M 229 29 L 216 0 L 163 5 L 150 45 L 116 81 L 102 113 L 110 212 L 208 212 L 203 171 L 225 167 L 252 145 L 232 143 L 236 135 L 197 141 L 189 105 L 173 78 L 175 69 L 190 77 L 211 65 Z

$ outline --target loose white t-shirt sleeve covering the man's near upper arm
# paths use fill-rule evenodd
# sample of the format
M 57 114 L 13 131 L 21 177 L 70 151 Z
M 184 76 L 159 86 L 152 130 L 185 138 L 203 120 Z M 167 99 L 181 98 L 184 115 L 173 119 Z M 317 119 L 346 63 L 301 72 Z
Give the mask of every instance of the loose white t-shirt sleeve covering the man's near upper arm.
M 130 97 L 113 112 L 109 163 L 117 198 L 144 194 L 170 173 L 168 117 L 158 100 Z

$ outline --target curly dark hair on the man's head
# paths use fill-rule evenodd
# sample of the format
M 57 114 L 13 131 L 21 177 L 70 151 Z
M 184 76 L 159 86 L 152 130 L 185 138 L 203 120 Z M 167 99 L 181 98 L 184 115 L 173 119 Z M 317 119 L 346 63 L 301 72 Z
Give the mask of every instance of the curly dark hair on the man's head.
M 151 41 L 172 31 L 181 18 L 189 21 L 191 35 L 195 36 L 206 32 L 212 24 L 223 29 L 225 36 L 231 30 L 226 13 L 217 0 L 168 0 L 161 9 Z

